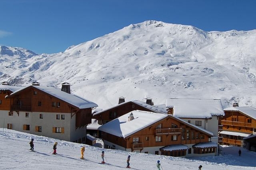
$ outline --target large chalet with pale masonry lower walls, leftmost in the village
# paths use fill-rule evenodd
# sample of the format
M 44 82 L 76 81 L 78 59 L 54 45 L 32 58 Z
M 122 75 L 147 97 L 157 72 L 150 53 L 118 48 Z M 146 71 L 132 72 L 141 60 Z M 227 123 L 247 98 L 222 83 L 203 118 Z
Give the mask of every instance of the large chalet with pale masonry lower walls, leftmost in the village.
M 63 83 L 61 90 L 38 82 L 12 93 L 2 89 L 6 92 L 5 104 L 0 105 L 4 128 L 85 143 L 86 125 L 98 105 L 70 94 L 70 84 Z

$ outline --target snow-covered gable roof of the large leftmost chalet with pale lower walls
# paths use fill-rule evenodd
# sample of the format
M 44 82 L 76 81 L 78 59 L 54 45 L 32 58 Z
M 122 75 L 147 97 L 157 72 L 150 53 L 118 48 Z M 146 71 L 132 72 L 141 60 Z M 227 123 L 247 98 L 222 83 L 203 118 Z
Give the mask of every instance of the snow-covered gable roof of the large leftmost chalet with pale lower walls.
M 76 96 L 74 94 L 68 94 L 67 92 L 61 91 L 60 89 L 54 88 L 54 87 L 44 87 L 44 86 L 27 86 L 20 88 L 17 91 L 14 91 L 10 96 L 17 94 L 18 92 L 29 88 L 34 87 L 38 90 L 42 90 L 46 92 L 47 94 L 54 96 L 56 98 L 59 98 L 60 100 L 63 100 L 73 106 L 76 106 L 80 109 L 83 108 L 90 108 L 90 107 L 98 107 L 97 104 L 93 103 L 92 101 L 86 100 L 82 97 Z

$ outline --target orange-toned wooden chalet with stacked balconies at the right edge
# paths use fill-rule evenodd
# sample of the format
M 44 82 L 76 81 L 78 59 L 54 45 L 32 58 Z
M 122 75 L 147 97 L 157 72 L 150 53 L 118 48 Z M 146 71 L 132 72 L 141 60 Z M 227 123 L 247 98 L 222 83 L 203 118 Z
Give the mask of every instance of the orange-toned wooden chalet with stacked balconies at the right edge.
M 221 119 L 223 131 L 220 132 L 223 145 L 243 146 L 243 139 L 256 134 L 256 108 L 233 107 L 224 109 L 225 116 Z

